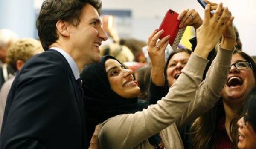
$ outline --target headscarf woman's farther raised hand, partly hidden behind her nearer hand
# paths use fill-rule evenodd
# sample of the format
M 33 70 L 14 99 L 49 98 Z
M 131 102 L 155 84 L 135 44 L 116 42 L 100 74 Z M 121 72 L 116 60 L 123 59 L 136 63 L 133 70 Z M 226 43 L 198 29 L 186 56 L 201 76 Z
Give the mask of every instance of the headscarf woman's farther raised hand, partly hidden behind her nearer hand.
M 207 0 L 204 0 L 204 2 L 209 4 L 211 6 L 212 10 L 215 10 L 218 7 L 218 4 L 216 4 L 216 3 L 212 3 Z M 221 47 L 225 48 L 225 49 L 233 49 L 233 46 L 236 42 L 236 33 L 235 33 L 235 29 L 234 29 L 233 23 L 232 23 L 234 20 L 234 17 L 231 17 L 232 13 L 228 10 L 227 7 L 226 8 L 223 7 L 222 11 L 224 11 L 224 9 L 227 9 L 227 16 L 225 16 L 225 21 L 227 21 L 227 25 L 226 25 L 226 29 L 222 33 Z M 230 20 L 230 22 L 229 22 L 229 20 Z

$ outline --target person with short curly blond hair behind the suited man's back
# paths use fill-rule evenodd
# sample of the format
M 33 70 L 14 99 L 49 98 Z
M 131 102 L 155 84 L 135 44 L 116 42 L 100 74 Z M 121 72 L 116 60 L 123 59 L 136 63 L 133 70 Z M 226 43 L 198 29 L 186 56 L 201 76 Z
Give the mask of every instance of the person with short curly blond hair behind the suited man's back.
M 6 63 L 9 64 L 15 72 L 18 72 L 30 57 L 43 51 L 44 49 L 38 40 L 32 38 L 19 39 L 15 41 L 6 52 Z M 0 128 L 2 126 L 7 95 L 14 79 L 15 76 L 9 78 L 0 90 Z

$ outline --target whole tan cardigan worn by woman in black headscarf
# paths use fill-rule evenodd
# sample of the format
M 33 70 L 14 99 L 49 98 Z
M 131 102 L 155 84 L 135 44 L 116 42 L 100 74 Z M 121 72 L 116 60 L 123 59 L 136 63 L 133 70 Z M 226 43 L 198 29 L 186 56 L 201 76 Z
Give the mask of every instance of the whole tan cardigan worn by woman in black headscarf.
M 183 149 L 177 127 L 191 122 L 218 101 L 230 70 L 232 53 L 219 50 L 200 88 L 208 60 L 192 53 L 179 79 L 157 104 L 102 123 L 100 149 L 154 149 L 147 139 L 158 132 L 166 149 Z

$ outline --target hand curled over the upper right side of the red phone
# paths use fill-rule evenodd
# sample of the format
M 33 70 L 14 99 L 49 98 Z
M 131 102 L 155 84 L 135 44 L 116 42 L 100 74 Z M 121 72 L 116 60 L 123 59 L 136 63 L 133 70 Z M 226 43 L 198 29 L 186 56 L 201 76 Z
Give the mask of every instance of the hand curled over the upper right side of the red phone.
M 186 27 L 186 26 L 193 26 L 196 29 L 200 27 L 203 23 L 203 20 L 199 16 L 198 12 L 195 11 L 195 9 L 185 9 L 183 10 L 177 20 L 180 21 L 180 28 Z

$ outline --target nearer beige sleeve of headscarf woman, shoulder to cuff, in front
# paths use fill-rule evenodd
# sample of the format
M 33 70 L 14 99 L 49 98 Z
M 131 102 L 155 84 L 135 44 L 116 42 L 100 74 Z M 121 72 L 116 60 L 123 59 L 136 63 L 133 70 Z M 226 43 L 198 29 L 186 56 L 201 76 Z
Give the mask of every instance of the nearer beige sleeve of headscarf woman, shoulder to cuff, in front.
M 100 148 L 132 149 L 174 123 L 195 98 L 207 62 L 192 54 L 179 79 L 157 104 L 103 122 L 99 132 Z

